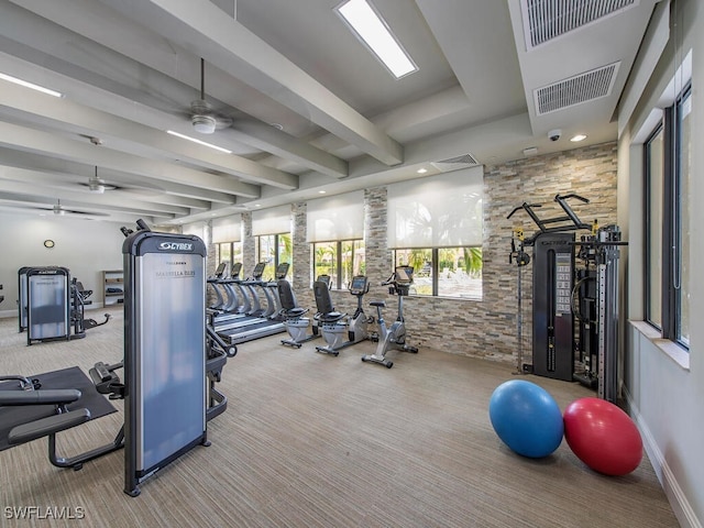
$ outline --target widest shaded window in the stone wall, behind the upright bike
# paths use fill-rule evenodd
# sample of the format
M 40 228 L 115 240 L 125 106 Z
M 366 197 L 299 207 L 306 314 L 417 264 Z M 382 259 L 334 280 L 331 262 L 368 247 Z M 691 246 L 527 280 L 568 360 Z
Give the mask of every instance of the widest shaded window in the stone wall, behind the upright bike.
M 483 176 L 472 167 L 388 186 L 388 246 L 394 266 L 414 267 L 411 295 L 482 298 Z

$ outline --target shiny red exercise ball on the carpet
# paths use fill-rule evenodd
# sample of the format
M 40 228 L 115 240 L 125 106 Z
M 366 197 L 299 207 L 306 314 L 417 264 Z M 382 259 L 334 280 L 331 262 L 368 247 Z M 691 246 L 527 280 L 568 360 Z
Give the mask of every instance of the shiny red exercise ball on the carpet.
M 564 438 L 572 452 L 605 475 L 630 473 L 642 459 L 642 439 L 630 417 L 600 398 L 580 398 L 564 409 Z

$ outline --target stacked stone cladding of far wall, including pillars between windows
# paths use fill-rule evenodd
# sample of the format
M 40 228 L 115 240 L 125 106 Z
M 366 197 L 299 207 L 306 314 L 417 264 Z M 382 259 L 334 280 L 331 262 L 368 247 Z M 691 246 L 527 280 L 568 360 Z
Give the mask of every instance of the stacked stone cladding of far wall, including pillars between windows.
M 562 216 L 556 195 L 578 194 L 590 204 L 572 200 L 574 211 L 583 222 L 598 220 L 601 226 L 616 222 L 616 143 L 575 148 L 559 154 L 535 156 L 503 165 L 486 166 L 484 172 L 484 239 L 483 299 L 449 299 L 438 297 L 407 297 L 404 314 L 408 342 L 413 345 L 516 362 L 517 340 L 517 267 L 509 264 L 514 228 L 522 227 L 526 237 L 538 228 L 519 211 L 510 220 L 506 217 L 524 202 L 542 204 L 540 218 Z M 364 191 L 364 232 L 366 275 L 370 293 L 364 310 L 375 316 L 371 300 L 386 300 L 385 317 L 396 317 L 397 297 L 381 286 L 392 272 L 392 252 L 386 240 L 386 187 Z M 306 205 L 292 205 L 294 278 L 293 287 L 299 305 L 315 312 L 311 284 L 311 252 L 306 241 Z M 249 218 L 248 218 L 249 217 Z M 243 257 L 245 270 L 254 265 L 254 239 L 251 237 L 251 215 L 242 216 L 244 224 Z M 586 234 L 586 232 L 585 232 Z M 530 253 L 530 249 L 528 249 Z M 248 265 L 248 263 L 250 263 Z M 522 286 L 522 353 L 530 362 L 532 272 L 521 270 Z M 331 292 L 336 309 L 352 314 L 356 299 L 346 292 Z M 372 326 L 374 329 L 374 326 Z

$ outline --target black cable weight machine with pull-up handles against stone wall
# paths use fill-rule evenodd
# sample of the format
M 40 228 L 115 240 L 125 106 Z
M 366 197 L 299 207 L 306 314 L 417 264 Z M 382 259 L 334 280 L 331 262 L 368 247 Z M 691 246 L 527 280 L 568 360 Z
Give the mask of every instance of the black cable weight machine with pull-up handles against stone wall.
M 564 215 L 541 219 L 540 204 L 516 207 L 507 218 L 524 210 L 538 231 L 525 238 L 514 229 L 509 263 L 518 271 L 518 373 L 534 373 L 578 381 L 597 389 L 598 396 L 616 399 L 618 356 L 618 258 L 620 230 L 584 223 L 569 200 L 588 204 L 579 195 L 557 195 Z M 588 230 L 576 240 L 575 232 Z M 532 364 L 522 362 L 521 270 L 531 262 L 532 248 Z M 579 263 L 579 265 L 578 265 Z M 575 365 L 575 353 L 578 361 Z M 576 366 L 576 367 L 575 367 Z

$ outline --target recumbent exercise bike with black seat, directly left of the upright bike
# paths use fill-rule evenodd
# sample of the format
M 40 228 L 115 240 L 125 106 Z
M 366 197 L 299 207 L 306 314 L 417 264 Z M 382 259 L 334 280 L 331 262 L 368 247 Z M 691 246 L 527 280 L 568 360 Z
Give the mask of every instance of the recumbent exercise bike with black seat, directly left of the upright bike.
M 350 284 L 350 294 L 356 297 L 356 310 L 352 318 L 346 318 L 346 314 L 334 311 L 329 283 L 316 280 L 312 284 L 312 290 L 316 297 L 316 307 L 320 314 L 318 321 L 322 328 L 322 337 L 328 343 L 327 346 L 316 346 L 317 352 L 338 355 L 341 349 L 370 339 L 366 326 L 374 322 L 374 318 L 366 317 L 362 308 L 362 297 L 370 290 L 369 280 L 364 275 L 355 275 Z M 344 340 L 345 334 L 346 341 Z

